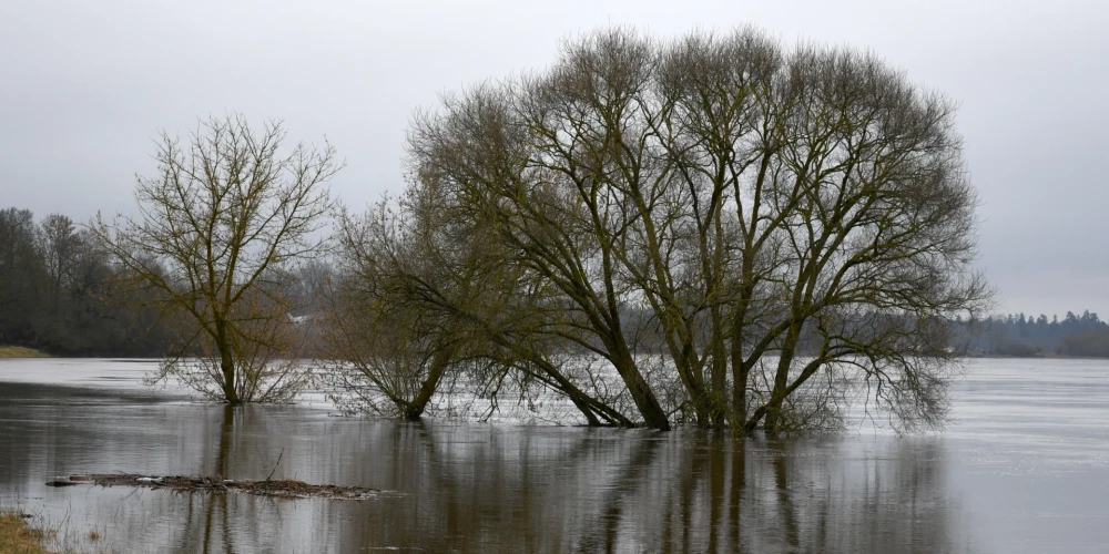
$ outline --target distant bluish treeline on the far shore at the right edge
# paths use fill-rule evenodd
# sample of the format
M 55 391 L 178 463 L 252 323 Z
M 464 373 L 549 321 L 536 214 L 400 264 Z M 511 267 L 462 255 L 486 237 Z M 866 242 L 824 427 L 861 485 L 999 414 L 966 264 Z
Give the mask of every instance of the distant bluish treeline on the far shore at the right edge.
M 993 356 L 1109 357 L 1109 324 L 1089 310 L 1068 311 L 1062 319 L 1009 314 L 976 321 L 969 329 L 969 352 Z

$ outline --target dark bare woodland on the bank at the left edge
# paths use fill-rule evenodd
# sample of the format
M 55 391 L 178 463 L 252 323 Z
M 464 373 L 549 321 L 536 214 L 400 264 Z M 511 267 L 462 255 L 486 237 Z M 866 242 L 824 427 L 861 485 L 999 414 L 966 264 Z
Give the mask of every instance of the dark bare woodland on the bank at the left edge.
M 68 216 L 0 209 L 0 346 L 58 356 L 161 356 L 157 314 L 118 301 L 112 267 Z

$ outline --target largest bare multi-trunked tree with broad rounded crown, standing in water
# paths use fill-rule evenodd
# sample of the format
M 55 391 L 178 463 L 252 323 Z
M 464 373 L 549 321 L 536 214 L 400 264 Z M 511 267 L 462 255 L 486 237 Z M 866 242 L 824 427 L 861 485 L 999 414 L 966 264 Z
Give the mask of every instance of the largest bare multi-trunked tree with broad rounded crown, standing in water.
M 990 300 L 954 114 L 869 54 L 604 30 L 419 115 L 407 194 L 481 236 L 502 293 L 541 296 L 512 311 L 528 343 L 603 360 L 648 427 L 834 423 L 859 388 L 932 425 L 958 363 L 945 324 Z

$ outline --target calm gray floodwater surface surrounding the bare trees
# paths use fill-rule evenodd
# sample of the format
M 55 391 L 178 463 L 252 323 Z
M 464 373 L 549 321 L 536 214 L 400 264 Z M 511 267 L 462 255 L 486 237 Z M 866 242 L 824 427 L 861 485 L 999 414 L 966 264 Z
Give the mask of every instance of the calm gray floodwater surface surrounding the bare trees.
M 940 433 L 835 438 L 226 409 L 136 382 L 152 363 L 0 360 L 0 506 L 92 552 L 1109 552 L 1109 363 L 976 360 Z M 282 453 L 283 452 L 283 453 Z M 44 482 L 222 474 L 369 501 Z M 88 538 L 90 531 L 100 535 Z

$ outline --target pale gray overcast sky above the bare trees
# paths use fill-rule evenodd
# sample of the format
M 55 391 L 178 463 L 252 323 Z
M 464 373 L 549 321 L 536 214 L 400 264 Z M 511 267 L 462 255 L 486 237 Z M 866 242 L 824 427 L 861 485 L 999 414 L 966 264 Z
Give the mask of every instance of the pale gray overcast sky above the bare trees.
M 960 102 L 981 267 L 1006 311 L 1109 318 L 1109 2 L 0 2 L 0 207 L 87 220 L 132 205 L 151 137 L 199 115 L 325 135 L 355 208 L 401 186 L 408 120 L 440 92 L 539 68 L 607 24 L 754 23 L 871 49 Z

